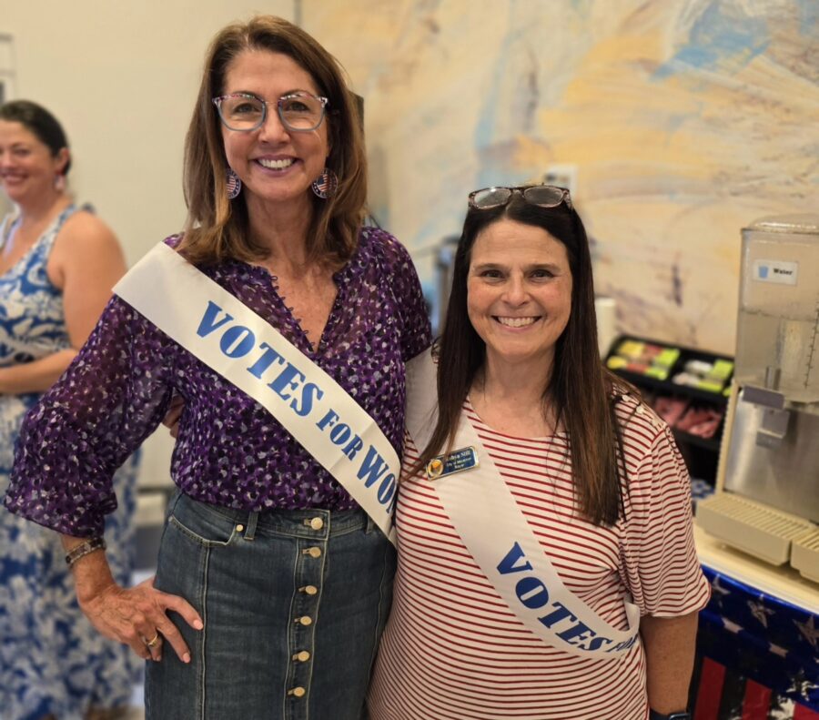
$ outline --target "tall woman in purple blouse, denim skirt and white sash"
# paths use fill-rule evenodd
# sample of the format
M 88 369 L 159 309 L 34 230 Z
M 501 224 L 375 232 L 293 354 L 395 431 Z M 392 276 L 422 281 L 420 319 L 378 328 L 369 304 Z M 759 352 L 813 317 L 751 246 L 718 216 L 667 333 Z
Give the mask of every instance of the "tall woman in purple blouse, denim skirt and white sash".
M 115 289 L 29 416 L 6 506 L 63 534 L 80 605 L 147 662 L 156 720 L 358 720 L 389 612 L 404 363 L 430 343 L 407 251 L 363 226 L 338 64 L 271 16 L 210 46 L 185 232 Z M 157 575 L 116 584 L 111 473 L 182 403 Z

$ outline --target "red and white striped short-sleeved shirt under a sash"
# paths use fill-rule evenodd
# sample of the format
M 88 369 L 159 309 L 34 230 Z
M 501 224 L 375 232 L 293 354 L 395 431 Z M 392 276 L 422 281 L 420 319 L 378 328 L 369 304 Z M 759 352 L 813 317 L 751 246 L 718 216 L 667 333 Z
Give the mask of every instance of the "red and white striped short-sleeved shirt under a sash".
M 702 608 L 709 586 L 694 550 L 688 472 L 668 427 L 634 398 L 618 405 L 627 487 L 613 527 L 575 508 L 567 437 L 521 439 L 464 412 L 562 583 L 612 627 L 628 627 L 623 593 L 641 614 Z M 419 456 L 409 436 L 405 467 Z M 492 518 L 486 518 L 489 525 Z M 435 482 L 401 484 L 399 569 L 369 691 L 371 720 L 642 720 L 645 655 L 588 659 L 531 634 L 472 559 Z

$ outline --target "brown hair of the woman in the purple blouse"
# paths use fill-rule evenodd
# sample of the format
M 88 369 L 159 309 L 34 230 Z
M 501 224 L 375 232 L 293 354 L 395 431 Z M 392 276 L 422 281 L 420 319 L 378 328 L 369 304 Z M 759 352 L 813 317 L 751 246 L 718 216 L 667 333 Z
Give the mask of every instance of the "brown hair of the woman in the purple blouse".
M 194 263 L 265 257 L 265 248 L 250 237 L 244 198 L 227 199 L 227 161 L 217 108 L 212 103 L 212 98 L 224 92 L 231 62 L 248 50 L 268 50 L 293 58 L 313 78 L 319 93 L 329 99 L 324 120 L 330 144 L 326 165 L 339 177 L 339 188 L 326 200 L 310 195 L 313 214 L 307 250 L 308 261 L 340 267 L 356 248 L 367 199 L 367 160 L 358 103 L 336 59 L 297 25 L 272 15 L 227 25 L 207 50 L 185 141 L 188 212 L 179 249 Z

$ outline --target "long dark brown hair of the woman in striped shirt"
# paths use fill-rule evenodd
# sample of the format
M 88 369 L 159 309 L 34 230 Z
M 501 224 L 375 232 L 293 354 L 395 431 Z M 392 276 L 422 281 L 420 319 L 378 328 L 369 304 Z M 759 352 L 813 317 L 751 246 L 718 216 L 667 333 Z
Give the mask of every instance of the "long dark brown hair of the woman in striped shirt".
M 543 369 L 542 402 L 544 412 L 547 403 L 551 404 L 557 424 L 568 433 L 571 474 L 581 514 L 595 524 L 611 525 L 622 507 L 620 472 L 625 472 L 613 397 L 626 391 L 626 386 L 600 360 L 589 242 L 581 218 L 567 205 L 540 208 L 515 194 L 504 208 L 470 208 L 467 213 L 438 347 L 438 423 L 416 467 L 424 467 L 435 455 L 451 448 L 461 406 L 483 366 L 486 346 L 467 314 L 467 278 L 475 239 L 481 230 L 502 218 L 546 230 L 565 246 L 569 256 L 571 314 L 555 345 L 551 373 Z

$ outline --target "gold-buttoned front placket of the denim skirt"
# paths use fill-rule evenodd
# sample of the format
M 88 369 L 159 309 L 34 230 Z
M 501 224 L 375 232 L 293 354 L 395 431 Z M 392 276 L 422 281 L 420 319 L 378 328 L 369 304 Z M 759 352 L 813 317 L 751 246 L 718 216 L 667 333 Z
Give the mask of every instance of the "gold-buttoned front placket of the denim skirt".
M 305 519 L 299 532 L 294 580 L 293 622 L 289 635 L 288 718 L 300 718 L 307 711 L 309 679 L 312 675 L 316 621 L 327 555 L 327 523 L 316 516 Z

